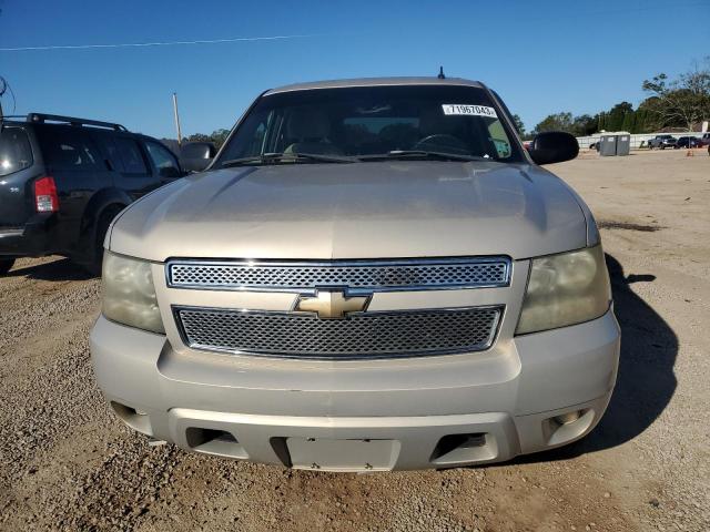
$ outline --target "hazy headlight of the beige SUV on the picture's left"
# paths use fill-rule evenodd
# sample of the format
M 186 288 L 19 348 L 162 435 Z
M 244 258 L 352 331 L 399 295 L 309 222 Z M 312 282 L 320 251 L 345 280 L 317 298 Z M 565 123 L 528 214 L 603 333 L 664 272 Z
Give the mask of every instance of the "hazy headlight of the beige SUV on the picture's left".
M 165 332 L 150 263 L 105 252 L 101 280 L 106 318 L 139 329 Z

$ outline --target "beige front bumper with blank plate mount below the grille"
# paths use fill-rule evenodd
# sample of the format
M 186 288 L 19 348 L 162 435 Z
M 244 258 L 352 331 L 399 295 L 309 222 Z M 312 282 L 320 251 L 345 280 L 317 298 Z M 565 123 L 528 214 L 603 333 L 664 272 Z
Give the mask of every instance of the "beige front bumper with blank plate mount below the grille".
M 504 461 L 587 434 L 616 382 L 611 310 L 490 352 L 397 361 L 244 360 L 173 350 L 100 317 L 97 380 L 135 430 L 209 454 L 333 471 Z M 554 418 L 576 412 L 561 424 Z

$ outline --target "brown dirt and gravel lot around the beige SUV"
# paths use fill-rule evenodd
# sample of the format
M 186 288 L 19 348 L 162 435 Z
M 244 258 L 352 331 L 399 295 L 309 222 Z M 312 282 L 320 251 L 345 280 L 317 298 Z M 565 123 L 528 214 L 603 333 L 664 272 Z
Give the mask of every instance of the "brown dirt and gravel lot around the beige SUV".
M 621 368 L 572 447 L 452 471 L 328 474 L 149 447 L 95 387 L 99 282 L 23 259 L 0 279 L 0 530 L 710 530 L 710 157 L 552 168 L 602 227 Z

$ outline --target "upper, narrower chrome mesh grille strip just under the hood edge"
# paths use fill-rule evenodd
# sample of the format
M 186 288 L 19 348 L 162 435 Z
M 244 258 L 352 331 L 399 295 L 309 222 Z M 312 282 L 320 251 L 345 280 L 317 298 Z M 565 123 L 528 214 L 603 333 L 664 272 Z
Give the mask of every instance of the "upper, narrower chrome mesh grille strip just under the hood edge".
M 378 262 L 192 262 L 168 264 L 175 288 L 303 291 L 328 286 L 387 291 L 508 286 L 510 260 L 444 258 Z

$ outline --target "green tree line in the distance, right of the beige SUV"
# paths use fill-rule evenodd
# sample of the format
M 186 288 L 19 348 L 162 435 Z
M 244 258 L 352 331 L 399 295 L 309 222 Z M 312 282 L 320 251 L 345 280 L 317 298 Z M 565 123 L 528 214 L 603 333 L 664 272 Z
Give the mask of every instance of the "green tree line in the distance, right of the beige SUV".
M 530 132 L 519 116 L 514 120 L 524 139 L 531 139 L 544 131 L 566 131 L 575 136 L 589 136 L 600 131 L 628 131 L 651 133 L 663 127 L 691 131 L 694 124 L 710 120 L 710 57 L 702 65 L 669 79 L 660 73 L 641 84 L 648 96 L 637 109 L 629 102 L 620 102 L 608 111 L 595 115 L 575 116 L 570 112 L 550 114 Z

